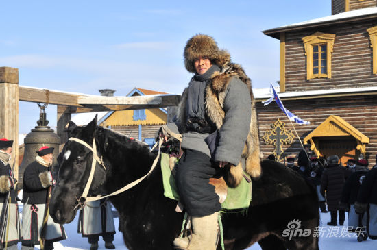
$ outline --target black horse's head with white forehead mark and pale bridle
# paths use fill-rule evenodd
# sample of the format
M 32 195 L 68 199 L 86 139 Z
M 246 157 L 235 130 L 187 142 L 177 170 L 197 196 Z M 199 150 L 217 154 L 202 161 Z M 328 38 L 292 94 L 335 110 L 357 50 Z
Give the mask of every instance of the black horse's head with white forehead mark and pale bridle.
M 105 169 L 95 161 L 93 181 L 88 186 L 88 195 L 83 195 L 92 169 L 93 147 L 97 127 L 97 116 L 85 127 L 77 127 L 70 122 L 68 133 L 70 139 L 64 145 L 59 159 L 58 178 L 53 189 L 49 214 L 56 223 L 70 223 L 75 218 L 80 203 L 84 202 L 82 196 L 95 196 L 101 193 L 101 185 L 105 179 Z M 73 140 L 77 138 L 79 140 Z M 82 143 L 84 142 L 84 143 Z M 86 145 L 85 145 L 86 144 Z M 95 150 L 99 152 L 99 150 Z M 97 155 L 101 158 L 101 155 Z

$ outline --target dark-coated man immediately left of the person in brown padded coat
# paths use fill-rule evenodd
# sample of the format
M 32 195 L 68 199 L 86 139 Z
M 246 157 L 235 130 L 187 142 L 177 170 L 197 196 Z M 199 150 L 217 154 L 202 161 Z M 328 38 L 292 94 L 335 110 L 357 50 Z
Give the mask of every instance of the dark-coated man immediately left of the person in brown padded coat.
M 318 195 L 318 201 L 319 201 L 319 208 L 321 209 L 321 212 L 326 213 L 326 200 L 321 195 L 321 177 L 322 173 L 324 172 L 324 166 L 319 164 L 318 159 L 316 156 L 311 157 L 311 164 L 309 164 L 308 168 L 308 180 L 315 186 L 317 190 Z

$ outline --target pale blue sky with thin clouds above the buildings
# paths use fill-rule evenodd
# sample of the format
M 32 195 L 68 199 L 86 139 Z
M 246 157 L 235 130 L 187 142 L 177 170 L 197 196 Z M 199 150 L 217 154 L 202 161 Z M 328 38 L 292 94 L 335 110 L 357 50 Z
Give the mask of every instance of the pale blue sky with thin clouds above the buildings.
M 330 0 L 4 1 L 0 66 L 19 68 L 21 86 L 180 94 L 191 78 L 184 45 L 202 33 L 230 51 L 254 88 L 264 88 L 279 78 L 279 42 L 261 31 L 330 14 Z M 28 133 L 38 106 L 20 102 L 19 109 L 20 133 Z M 47 118 L 55 129 L 55 105 Z

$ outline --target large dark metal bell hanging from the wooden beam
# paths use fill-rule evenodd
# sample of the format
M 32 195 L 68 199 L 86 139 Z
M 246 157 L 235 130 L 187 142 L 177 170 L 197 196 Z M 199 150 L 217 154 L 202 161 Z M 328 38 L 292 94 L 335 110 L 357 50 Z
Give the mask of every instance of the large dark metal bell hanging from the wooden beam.
M 39 105 L 39 103 L 38 103 Z M 39 120 L 37 121 L 38 126 L 32 129 L 32 132 L 27 134 L 23 139 L 25 143 L 25 151 L 23 154 L 23 160 L 19 166 L 19 179 L 17 182 L 17 190 L 23 188 L 23 172 L 25 168 L 32 162 L 36 160 L 37 153 L 42 146 L 53 147 L 53 164 L 52 168 L 56 170 L 58 166 L 57 158 L 59 154 L 60 137 L 50 129 L 47 124 L 49 121 L 46 120 L 45 107 L 40 107 Z

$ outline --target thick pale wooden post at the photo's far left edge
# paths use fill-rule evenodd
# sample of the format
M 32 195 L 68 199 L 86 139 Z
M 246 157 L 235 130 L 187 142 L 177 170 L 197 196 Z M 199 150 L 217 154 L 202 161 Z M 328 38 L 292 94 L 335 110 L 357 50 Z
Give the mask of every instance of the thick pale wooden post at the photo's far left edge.
M 19 176 L 19 69 L 0 67 L 0 138 L 14 140 L 12 166 Z

